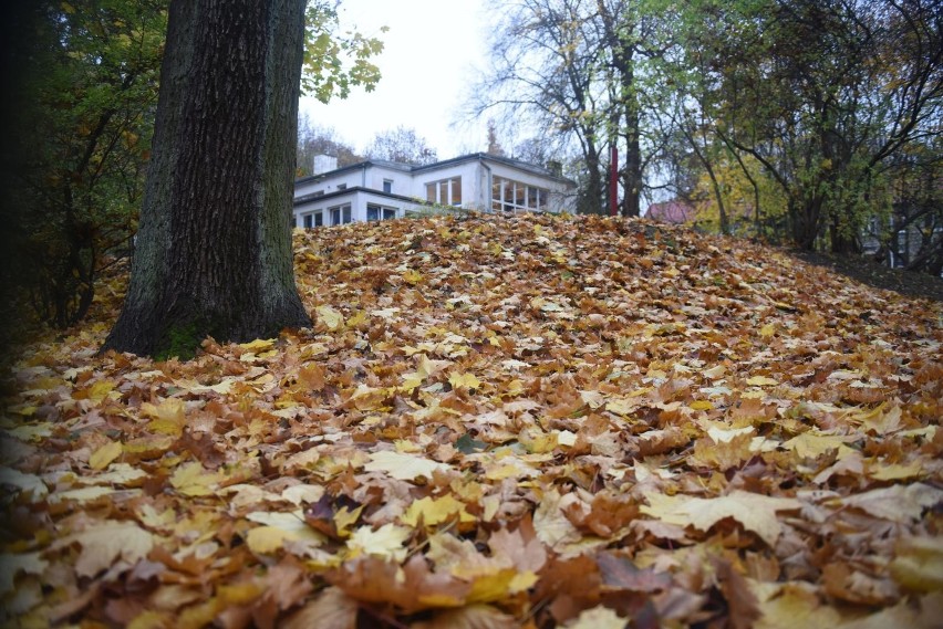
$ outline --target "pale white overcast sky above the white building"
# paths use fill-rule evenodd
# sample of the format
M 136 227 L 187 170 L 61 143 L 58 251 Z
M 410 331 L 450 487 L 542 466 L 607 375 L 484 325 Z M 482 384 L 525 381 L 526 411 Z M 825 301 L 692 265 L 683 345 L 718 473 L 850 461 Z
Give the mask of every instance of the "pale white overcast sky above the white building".
M 485 150 L 486 122 L 459 119 L 475 69 L 485 69 L 481 0 L 343 0 L 339 12 L 343 30 L 383 40 L 374 57 L 382 78 L 373 92 L 356 87 L 328 105 L 302 97 L 312 126 L 333 127 L 359 151 L 397 126 L 415 129 L 439 159 Z M 390 30 L 381 33 L 384 25 Z

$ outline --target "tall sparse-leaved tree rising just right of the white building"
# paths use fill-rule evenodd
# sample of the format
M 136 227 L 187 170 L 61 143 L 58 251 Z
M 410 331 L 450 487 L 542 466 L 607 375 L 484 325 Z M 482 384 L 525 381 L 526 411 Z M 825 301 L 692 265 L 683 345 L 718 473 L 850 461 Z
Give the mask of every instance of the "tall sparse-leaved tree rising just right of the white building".
M 647 66 L 663 53 L 652 0 L 494 0 L 491 66 L 472 88 L 469 114 L 496 112 L 501 120 L 559 138 L 557 161 L 580 154 L 581 212 L 605 210 L 610 149 L 619 148 L 621 213 L 638 216 L 656 154 L 652 134 L 660 90 Z

